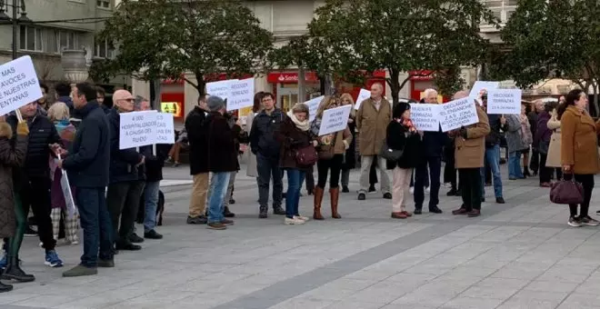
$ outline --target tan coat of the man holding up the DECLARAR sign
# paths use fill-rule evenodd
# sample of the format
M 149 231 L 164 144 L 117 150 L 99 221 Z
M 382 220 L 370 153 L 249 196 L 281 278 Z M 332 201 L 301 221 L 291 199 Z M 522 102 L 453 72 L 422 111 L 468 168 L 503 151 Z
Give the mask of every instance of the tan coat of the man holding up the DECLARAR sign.
M 490 133 L 490 123 L 484 109 L 477 105 L 479 122 L 466 127 L 466 138 L 455 138 L 456 168 L 484 167 L 485 135 Z

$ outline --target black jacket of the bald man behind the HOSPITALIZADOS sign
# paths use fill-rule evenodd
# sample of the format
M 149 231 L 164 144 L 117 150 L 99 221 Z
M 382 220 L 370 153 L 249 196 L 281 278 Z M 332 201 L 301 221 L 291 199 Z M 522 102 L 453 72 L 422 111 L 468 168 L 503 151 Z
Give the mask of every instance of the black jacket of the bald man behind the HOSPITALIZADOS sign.
M 119 149 L 121 118 L 116 107 L 106 116 L 110 124 L 110 184 L 135 181 L 139 177 L 136 165 L 142 161 L 142 154 L 135 148 Z

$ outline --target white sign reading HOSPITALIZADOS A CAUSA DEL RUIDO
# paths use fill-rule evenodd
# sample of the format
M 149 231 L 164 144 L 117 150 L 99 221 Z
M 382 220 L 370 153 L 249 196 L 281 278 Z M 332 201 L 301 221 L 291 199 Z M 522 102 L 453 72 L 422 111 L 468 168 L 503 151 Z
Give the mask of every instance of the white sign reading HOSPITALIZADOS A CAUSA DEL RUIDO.
M 156 111 L 121 113 L 119 149 L 155 144 Z

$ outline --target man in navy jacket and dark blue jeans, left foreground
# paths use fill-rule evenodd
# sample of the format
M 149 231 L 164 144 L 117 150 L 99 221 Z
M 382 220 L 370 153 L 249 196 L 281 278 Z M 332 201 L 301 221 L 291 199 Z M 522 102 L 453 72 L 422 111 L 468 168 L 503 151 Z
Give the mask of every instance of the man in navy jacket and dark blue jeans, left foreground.
M 77 188 L 75 204 L 84 229 L 84 254 L 81 264 L 65 272 L 65 277 L 97 274 L 98 266 L 115 266 L 112 225 L 105 202 L 110 164 L 108 119 L 95 101 L 93 85 L 77 84 L 73 98 L 82 122 L 68 155 L 58 165 L 65 169 L 70 183 Z

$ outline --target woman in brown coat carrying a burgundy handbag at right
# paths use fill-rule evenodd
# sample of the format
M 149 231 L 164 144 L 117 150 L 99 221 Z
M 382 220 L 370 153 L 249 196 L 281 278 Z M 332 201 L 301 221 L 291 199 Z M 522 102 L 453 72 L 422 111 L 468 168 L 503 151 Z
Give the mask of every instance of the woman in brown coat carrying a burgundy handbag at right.
M 594 176 L 600 171 L 598 164 L 598 134 L 600 121 L 587 112 L 587 94 L 580 89 L 571 90 L 560 105 L 557 119 L 561 122 L 560 158 L 565 172 L 565 180 L 575 178 L 584 187 L 584 203 L 569 204 L 568 224 L 596 226 L 597 220 L 589 216 L 589 206 L 594 190 Z

